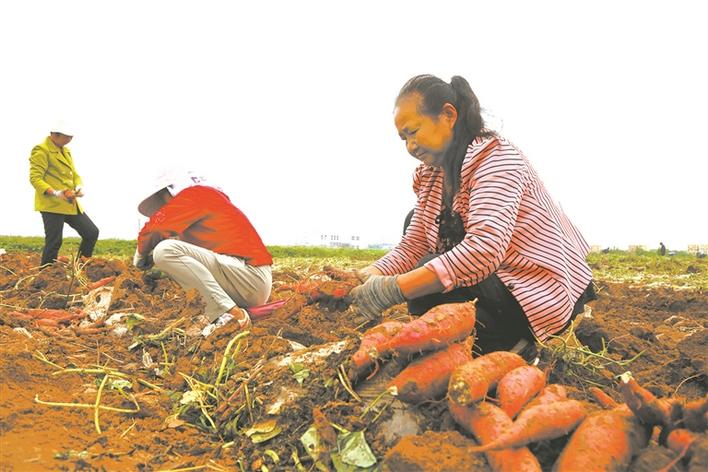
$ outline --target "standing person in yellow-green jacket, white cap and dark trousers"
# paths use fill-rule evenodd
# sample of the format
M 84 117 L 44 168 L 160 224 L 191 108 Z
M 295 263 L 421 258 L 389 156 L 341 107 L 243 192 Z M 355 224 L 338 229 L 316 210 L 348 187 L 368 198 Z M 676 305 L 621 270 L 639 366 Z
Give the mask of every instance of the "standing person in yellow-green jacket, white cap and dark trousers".
M 32 149 L 30 183 L 35 188 L 34 209 L 44 222 L 42 265 L 56 260 L 61 248 L 64 223 L 81 236 L 79 254 L 88 258 L 98 240 L 98 228 L 84 213 L 79 198 L 81 177 L 74 168 L 71 151 L 66 147 L 73 135 L 64 124 L 52 128 L 44 142 Z

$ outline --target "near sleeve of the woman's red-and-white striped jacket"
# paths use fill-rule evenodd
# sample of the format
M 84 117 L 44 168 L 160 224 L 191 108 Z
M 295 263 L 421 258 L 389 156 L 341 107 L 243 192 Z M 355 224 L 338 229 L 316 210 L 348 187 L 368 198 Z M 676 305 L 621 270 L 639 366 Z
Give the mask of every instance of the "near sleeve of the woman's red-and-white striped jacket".
M 475 285 L 495 272 L 511 241 L 528 180 L 527 168 L 520 157 L 489 159 L 471 184 L 464 239 L 426 264 L 446 292 Z

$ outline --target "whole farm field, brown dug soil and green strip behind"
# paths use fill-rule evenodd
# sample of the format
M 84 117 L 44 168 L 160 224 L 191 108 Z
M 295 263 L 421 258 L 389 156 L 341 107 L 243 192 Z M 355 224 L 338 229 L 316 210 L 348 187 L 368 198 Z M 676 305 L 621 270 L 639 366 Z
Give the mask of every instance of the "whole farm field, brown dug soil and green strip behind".
M 0 237 L 0 470 L 491 470 L 447 401 L 387 393 L 409 358 L 351 375 L 362 333 L 382 320 L 361 324 L 346 299 L 314 300 L 308 287 L 383 252 L 272 248 L 271 301 L 285 305 L 248 333 L 227 325 L 194 340 L 184 328 L 199 296 L 131 267 L 132 242 L 102 241 L 86 264 L 39 271 L 38 239 Z M 589 411 L 601 409 L 592 387 L 622 401 L 626 371 L 657 397 L 706 398 L 708 260 L 611 251 L 590 263 L 599 299 L 540 347 L 548 382 Z M 39 309 L 83 312 L 38 323 L 27 314 Z M 405 305 L 384 319 L 410 321 Z M 692 462 L 671 470 L 708 469 L 698 438 Z M 529 450 L 551 470 L 568 441 Z M 672 462 L 658 442 L 627 470 Z

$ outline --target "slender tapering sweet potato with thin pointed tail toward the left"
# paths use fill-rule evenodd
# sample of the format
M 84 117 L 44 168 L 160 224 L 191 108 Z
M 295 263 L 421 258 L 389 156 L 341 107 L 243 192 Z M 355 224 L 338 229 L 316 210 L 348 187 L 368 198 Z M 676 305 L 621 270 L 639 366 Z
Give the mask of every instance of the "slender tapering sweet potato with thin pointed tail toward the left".
M 496 451 L 559 438 L 573 431 L 585 419 L 586 414 L 585 405 L 578 400 L 535 406 L 524 410 L 494 441 L 471 450 Z

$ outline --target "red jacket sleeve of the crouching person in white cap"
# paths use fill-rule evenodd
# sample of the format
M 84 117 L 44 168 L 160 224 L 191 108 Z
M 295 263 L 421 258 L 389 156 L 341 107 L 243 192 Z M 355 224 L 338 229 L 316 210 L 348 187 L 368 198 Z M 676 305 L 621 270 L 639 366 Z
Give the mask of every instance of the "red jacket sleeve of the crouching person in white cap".
M 138 252 L 147 255 L 165 239 L 180 239 L 184 231 L 205 217 L 203 205 L 192 190 L 185 190 L 160 208 L 138 235 Z

